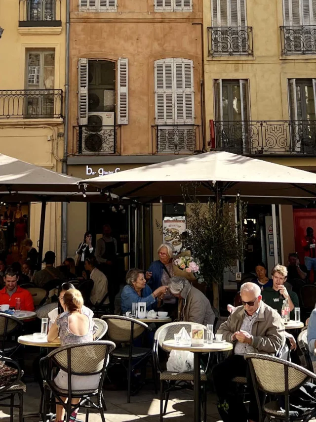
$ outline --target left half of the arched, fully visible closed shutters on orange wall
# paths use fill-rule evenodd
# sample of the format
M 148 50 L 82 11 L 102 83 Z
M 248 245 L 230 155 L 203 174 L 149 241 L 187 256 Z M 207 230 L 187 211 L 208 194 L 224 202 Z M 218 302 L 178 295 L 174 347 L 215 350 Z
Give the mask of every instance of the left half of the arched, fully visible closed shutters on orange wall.
M 156 125 L 174 125 L 173 59 L 155 61 Z

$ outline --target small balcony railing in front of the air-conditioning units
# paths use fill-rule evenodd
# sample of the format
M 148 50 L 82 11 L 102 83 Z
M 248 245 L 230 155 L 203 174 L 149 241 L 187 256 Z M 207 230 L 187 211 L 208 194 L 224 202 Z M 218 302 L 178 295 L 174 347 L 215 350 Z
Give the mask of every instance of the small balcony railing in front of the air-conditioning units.
M 76 155 L 116 154 L 120 126 L 84 125 L 74 127 Z

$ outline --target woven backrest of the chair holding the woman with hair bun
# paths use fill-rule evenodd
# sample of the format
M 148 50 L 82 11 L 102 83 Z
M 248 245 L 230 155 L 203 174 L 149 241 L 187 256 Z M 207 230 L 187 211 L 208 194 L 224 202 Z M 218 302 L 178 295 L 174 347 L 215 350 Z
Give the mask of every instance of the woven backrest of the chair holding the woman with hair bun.
M 104 359 L 115 349 L 112 341 L 92 341 L 68 344 L 59 347 L 47 355 L 56 366 L 74 375 L 98 374 L 104 367 Z

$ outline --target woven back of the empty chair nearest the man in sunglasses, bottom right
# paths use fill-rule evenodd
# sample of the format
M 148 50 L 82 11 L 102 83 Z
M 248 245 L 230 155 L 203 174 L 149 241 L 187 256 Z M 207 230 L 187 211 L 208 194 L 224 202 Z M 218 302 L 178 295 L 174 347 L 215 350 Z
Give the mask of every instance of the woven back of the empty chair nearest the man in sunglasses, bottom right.
M 268 394 L 286 394 L 307 380 L 316 379 L 311 371 L 274 356 L 249 353 L 245 359 L 250 360 L 258 387 Z

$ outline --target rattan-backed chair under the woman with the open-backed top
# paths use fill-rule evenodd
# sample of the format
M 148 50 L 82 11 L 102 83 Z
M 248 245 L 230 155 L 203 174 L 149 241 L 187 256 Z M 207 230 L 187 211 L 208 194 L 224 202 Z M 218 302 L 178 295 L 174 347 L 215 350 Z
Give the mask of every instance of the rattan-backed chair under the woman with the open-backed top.
M 115 349 L 112 341 L 92 341 L 86 343 L 68 344 L 50 352 L 46 357 L 40 360 L 40 372 L 43 378 L 44 400 L 43 400 L 43 419 L 48 413 L 48 393 L 56 403 L 62 405 L 67 412 L 66 422 L 70 421 L 72 412 L 76 409 L 85 409 L 85 421 L 88 422 L 89 410 L 96 409 L 99 411 L 102 422 L 105 422 L 104 411 L 106 410 L 104 397 L 102 393 L 102 385 L 106 375 L 109 362 L 109 355 Z M 52 379 L 53 369 L 63 370 L 68 375 L 68 389 L 58 387 Z M 72 375 L 80 375 L 82 377 L 99 374 L 100 380 L 98 386 L 92 389 L 84 388 L 84 381 L 80 390 L 72 388 Z M 62 397 L 67 397 L 65 403 Z M 92 397 L 97 398 L 94 403 Z M 73 398 L 81 399 L 78 404 L 72 404 Z

